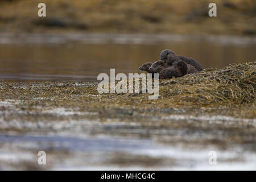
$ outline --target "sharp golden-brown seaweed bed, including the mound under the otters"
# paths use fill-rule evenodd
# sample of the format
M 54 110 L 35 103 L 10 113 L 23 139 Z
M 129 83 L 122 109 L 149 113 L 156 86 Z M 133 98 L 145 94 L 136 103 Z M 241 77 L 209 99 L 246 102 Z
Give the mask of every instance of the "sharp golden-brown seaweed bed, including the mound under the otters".
M 61 106 L 101 114 L 161 113 L 170 108 L 224 109 L 240 117 L 255 117 L 256 62 L 170 80 L 159 80 L 159 98 L 148 94 L 99 94 L 97 83 L 1 82 L 1 100 L 19 100 L 19 109 Z M 243 108 L 243 109 L 241 109 Z M 2 106 L 2 110 L 5 109 Z M 170 110 L 171 111 L 171 110 Z M 219 112 L 219 111 L 217 111 Z

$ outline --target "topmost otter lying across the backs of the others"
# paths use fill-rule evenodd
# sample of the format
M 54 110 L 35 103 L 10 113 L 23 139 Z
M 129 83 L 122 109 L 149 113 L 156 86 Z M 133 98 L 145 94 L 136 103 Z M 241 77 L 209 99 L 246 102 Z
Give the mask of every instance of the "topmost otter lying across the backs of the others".
M 203 67 L 201 66 L 201 64 L 198 61 L 196 61 L 195 59 L 192 59 L 192 58 L 186 57 L 186 56 L 178 56 L 174 52 L 172 52 L 168 49 L 163 50 L 160 53 L 160 58 L 162 61 L 164 61 L 164 63 L 167 63 L 168 65 L 172 65 L 172 63 L 174 63 L 175 61 L 184 61 L 185 63 L 190 64 L 193 67 L 195 67 L 197 69 L 197 71 L 203 70 Z

